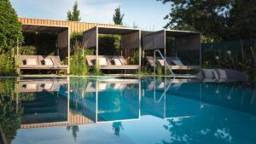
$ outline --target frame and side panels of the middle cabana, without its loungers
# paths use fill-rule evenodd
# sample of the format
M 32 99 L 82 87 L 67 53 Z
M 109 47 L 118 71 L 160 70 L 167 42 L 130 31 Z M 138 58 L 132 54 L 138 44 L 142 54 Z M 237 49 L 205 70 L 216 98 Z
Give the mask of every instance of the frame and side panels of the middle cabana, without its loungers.
M 99 65 L 99 35 L 113 34 L 121 36 L 121 50 L 123 55 L 124 49 L 139 50 L 139 64 L 126 66 L 100 66 L 101 69 L 140 69 L 141 67 L 141 31 L 134 28 L 95 26 L 83 33 L 83 46 L 85 48 L 96 47 L 96 64 Z M 126 55 L 124 55 L 126 57 Z

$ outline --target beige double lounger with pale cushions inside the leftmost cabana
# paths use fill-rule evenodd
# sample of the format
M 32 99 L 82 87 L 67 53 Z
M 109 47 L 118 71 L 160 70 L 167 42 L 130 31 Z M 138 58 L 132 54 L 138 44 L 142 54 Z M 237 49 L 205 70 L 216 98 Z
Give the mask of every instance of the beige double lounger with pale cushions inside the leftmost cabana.
M 59 56 L 19 55 L 15 57 L 20 70 L 61 70 L 68 69 L 62 65 Z

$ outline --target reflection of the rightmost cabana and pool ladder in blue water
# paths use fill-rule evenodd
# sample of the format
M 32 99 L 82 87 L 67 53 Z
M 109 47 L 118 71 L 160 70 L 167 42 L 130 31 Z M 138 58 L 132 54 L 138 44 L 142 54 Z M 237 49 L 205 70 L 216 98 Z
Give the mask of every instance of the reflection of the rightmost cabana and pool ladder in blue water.
M 185 91 L 183 86 L 190 84 L 189 79 L 171 79 L 165 78 L 158 82 L 156 78 L 147 84 L 142 95 L 143 107 L 142 115 L 152 115 L 157 118 L 191 118 L 196 117 L 201 112 L 201 84 L 198 83 L 193 88 L 195 97 L 191 100 L 188 97 L 183 99 L 180 90 Z M 195 83 L 197 84 L 197 83 Z M 179 100 L 180 99 L 180 100 Z M 183 102 L 181 102 L 183 99 Z M 176 102 L 177 101 L 177 102 Z M 150 107 L 150 108 L 148 108 Z

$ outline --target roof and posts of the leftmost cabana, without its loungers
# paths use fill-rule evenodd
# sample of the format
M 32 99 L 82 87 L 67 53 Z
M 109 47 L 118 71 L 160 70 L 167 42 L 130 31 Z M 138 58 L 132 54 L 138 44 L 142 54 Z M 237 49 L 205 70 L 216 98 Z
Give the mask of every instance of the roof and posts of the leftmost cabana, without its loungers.
M 42 33 L 57 33 L 57 48 L 66 50 L 67 58 L 67 73 L 70 67 L 70 30 L 69 26 L 52 26 L 52 25 L 37 25 L 37 24 L 22 24 L 23 32 L 42 32 Z M 17 47 L 17 55 L 20 55 L 19 47 Z M 58 52 L 59 55 L 59 52 Z

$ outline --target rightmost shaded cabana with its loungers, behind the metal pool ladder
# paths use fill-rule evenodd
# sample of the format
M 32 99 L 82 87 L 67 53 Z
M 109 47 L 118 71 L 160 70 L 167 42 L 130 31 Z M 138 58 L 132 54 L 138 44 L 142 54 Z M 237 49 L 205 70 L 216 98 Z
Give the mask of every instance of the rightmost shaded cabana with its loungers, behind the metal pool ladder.
M 160 30 L 158 32 L 150 32 L 143 35 L 143 54 L 147 51 L 160 49 L 162 55 L 166 58 L 166 62 L 170 65 L 172 70 L 192 70 L 200 69 L 201 67 L 201 34 L 200 32 L 177 31 L 177 30 Z M 170 43 L 172 42 L 172 44 Z M 173 49 L 176 51 L 173 53 Z M 183 64 L 182 60 L 177 56 L 185 54 L 185 51 L 197 51 L 193 54 L 193 59 L 196 59 L 193 65 L 188 65 L 191 60 L 187 60 Z M 171 53 L 171 54 L 170 54 Z M 144 55 L 143 55 L 144 56 Z M 190 59 L 192 55 L 188 55 Z M 150 66 L 154 66 L 154 57 L 146 56 Z M 160 61 L 160 57 L 156 58 L 160 65 L 166 66 L 164 61 Z M 196 63 L 196 64 L 195 64 Z

